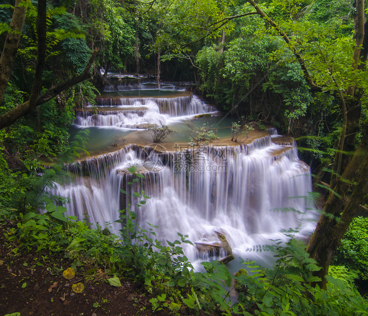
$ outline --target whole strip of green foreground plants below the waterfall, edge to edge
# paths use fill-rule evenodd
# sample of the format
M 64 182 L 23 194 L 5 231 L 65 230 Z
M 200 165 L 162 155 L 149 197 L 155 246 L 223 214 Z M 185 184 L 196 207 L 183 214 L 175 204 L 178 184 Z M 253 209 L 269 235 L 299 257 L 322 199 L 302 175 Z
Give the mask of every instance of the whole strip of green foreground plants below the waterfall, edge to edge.
M 128 185 L 134 186 L 143 175 L 135 167 L 129 171 L 132 179 Z M 2 229 L 4 246 L 14 255 L 20 248 L 59 254 L 73 261 L 73 269 L 88 262 L 91 279 L 102 266 L 108 275 L 106 282 L 112 286 L 121 286 L 121 277 L 140 281 L 151 296 L 153 311 L 179 315 L 186 307 L 192 314 L 200 310 L 224 315 L 367 314 L 366 302 L 353 285 L 355 275 L 346 268 L 331 269 L 335 278 L 327 276 L 326 290 L 312 286 L 319 281 L 314 272 L 321 268 L 309 258 L 304 244 L 293 239 L 285 246 L 276 241 L 273 270 L 244 262 L 246 270 L 232 276 L 225 265 L 212 261 L 202 263 L 204 272 L 193 271 L 181 246 L 191 244 L 187 236 L 178 233 L 179 240 L 163 244 L 155 239 L 152 229 L 138 227 L 139 208 L 148 196 L 143 191 L 132 195 L 137 201 L 134 207 L 120 211 L 120 238 L 107 228 L 102 230 L 99 224 L 91 228 L 87 220 L 66 219 L 66 209 L 46 198 L 45 213 L 31 211 L 12 216 L 16 225 Z M 0 221 L 0 225 L 7 223 Z M 226 299 L 233 280 L 239 291 L 235 304 Z

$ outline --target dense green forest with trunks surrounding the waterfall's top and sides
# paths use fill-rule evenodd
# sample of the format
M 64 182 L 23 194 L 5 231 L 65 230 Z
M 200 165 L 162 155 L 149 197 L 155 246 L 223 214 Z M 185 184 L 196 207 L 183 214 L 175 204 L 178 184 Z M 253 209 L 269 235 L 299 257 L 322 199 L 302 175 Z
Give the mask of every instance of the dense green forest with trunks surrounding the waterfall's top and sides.
M 235 120 L 297 138 L 326 192 L 306 247 L 322 267 L 310 280 L 326 288 L 368 203 L 366 11 L 363 0 L 0 1 L 0 207 L 44 204 L 37 172 L 69 148 L 74 109 L 94 103 L 107 71 L 193 82 Z

